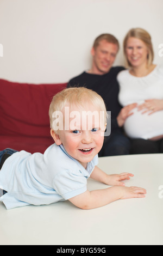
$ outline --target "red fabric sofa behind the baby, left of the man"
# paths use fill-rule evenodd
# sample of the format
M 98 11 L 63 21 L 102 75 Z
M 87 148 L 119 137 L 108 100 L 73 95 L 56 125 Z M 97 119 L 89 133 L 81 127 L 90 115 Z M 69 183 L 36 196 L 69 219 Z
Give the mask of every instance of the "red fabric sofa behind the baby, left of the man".
M 0 151 L 44 153 L 53 144 L 48 109 L 67 84 L 28 84 L 0 79 Z

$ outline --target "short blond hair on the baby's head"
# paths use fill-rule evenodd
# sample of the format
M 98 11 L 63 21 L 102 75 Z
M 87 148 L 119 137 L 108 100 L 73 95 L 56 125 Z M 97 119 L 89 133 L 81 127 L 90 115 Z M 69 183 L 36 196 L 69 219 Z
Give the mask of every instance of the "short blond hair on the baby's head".
M 73 87 L 66 88 L 54 95 L 51 105 L 49 107 L 49 119 L 51 129 L 53 129 L 53 113 L 55 111 L 62 111 L 67 104 L 70 107 L 74 105 L 77 107 L 84 107 L 86 105 L 86 102 L 91 102 L 93 106 L 97 106 L 101 109 L 101 111 L 104 111 L 104 121 L 106 123 L 108 114 L 106 112 L 105 103 L 102 97 L 93 90 L 87 89 L 85 87 Z M 55 132 L 57 133 L 57 131 Z

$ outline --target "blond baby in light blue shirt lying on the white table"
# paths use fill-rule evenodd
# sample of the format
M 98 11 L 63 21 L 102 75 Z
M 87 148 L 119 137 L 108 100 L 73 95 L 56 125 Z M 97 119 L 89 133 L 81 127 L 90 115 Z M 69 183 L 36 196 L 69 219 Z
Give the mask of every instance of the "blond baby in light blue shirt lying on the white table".
M 107 120 L 101 96 L 82 87 L 64 89 L 53 97 L 49 118 L 55 143 L 44 154 L 10 150 L 1 164 L 0 188 L 5 193 L 0 200 L 7 209 L 65 200 L 93 209 L 118 199 L 145 197 L 145 189 L 124 186 L 123 180 L 133 174 L 108 175 L 97 167 Z M 111 187 L 89 191 L 89 177 Z

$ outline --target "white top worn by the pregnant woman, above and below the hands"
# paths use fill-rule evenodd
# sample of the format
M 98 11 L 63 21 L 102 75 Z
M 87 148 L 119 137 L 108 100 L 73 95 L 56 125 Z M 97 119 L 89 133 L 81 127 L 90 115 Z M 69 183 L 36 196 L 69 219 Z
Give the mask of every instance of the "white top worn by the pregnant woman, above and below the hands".
M 155 69 L 145 77 L 135 77 L 129 70 L 121 71 L 117 80 L 120 84 L 118 99 L 121 105 L 142 104 L 145 100 L 163 100 L 163 66 Z M 124 130 L 130 138 L 151 139 L 163 135 L 163 110 L 149 115 L 142 114 L 135 108 L 133 115 L 124 123 Z

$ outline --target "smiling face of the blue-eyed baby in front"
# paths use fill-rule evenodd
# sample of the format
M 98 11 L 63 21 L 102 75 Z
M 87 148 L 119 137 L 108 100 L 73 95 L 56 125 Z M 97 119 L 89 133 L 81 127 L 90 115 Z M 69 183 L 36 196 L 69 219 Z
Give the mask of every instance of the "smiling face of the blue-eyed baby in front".
M 67 153 L 84 168 L 99 153 L 104 141 L 104 112 L 92 104 L 65 107 L 62 111 L 64 129 L 59 130 L 57 145 L 64 145 Z

